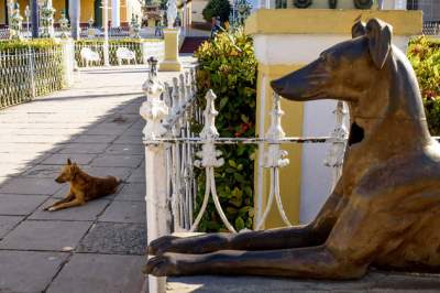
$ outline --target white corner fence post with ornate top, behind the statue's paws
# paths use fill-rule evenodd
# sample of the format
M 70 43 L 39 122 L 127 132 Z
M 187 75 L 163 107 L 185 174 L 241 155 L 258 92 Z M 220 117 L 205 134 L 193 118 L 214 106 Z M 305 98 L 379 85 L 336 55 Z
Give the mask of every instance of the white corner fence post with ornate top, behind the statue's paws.
M 168 107 L 164 100 L 161 100 L 165 87 L 157 80 L 155 74 L 151 74 L 143 85 L 143 90 L 146 101 L 142 104 L 140 113 L 146 120 L 143 129 L 144 140 L 154 140 L 166 133 L 163 121 L 168 116 Z M 145 200 L 148 243 L 170 231 L 166 165 L 165 143 L 147 144 L 145 146 Z M 165 292 L 165 278 L 148 275 L 148 292 Z

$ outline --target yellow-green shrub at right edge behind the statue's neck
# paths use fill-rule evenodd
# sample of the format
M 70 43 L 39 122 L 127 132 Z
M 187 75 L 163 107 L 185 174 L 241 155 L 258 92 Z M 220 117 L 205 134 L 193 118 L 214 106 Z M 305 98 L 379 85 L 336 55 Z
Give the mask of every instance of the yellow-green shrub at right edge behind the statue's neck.
M 408 57 L 419 82 L 429 130 L 440 135 L 440 42 L 417 37 L 409 44 Z

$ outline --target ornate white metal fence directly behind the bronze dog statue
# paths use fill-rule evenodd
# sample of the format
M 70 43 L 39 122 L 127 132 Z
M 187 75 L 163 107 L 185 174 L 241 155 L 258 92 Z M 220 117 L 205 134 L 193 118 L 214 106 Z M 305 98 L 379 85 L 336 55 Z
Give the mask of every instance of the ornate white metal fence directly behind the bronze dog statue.
M 220 138 L 216 128 L 216 95 L 206 94 L 206 108 L 201 111 L 196 100 L 195 69 L 173 79 L 173 85 L 161 84 L 154 73 L 145 82 L 143 89 L 146 101 L 140 113 L 146 120 L 143 130 L 145 144 L 146 214 L 148 242 L 160 236 L 175 231 L 196 231 L 206 213 L 210 198 L 224 226 L 231 232 L 238 232 L 229 223 L 221 207 L 216 188 L 216 167 L 224 163 L 219 144 L 258 145 L 257 172 L 268 170 L 270 194 L 264 210 L 256 211 L 254 229 L 264 227 L 267 215 L 275 205 L 286 226 L 292 226 L 283 207 L 279 194 L 279 172 L 289 164 L 287 152 L 280 145 L 285 143 L 331 143 L 326 165 L 332 167 L 334 181 L 342 166 L 348 130 L 343 126 L 346 115 L 342 102 L 334 111 L 337 128 L 330 137 L 293 138 L 286 137 L 280 119 L 283 111 L 277 95 L 273 99 L 272 121 L 264 138 Z M 191 119 L 202 124 L 200 133 L 194 133 L 189 127 Z M 252 164 L 250 160 L 250 164 Z M 195 167 L 205 172 L 205 196 L 201 207 L 195 215 L 196 180 Z M 263 194 L 256 194 L 263 197 Z M 164 279 L 150 279 L 150 292 L 163 292 Z

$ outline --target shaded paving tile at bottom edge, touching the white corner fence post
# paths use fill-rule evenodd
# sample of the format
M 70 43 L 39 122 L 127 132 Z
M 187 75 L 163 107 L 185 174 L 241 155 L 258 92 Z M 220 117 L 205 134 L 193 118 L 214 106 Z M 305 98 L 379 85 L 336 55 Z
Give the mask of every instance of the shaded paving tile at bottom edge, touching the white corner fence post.
M 139 293 L 145 257 L 76 253 L 50 285 L 48 293 Z

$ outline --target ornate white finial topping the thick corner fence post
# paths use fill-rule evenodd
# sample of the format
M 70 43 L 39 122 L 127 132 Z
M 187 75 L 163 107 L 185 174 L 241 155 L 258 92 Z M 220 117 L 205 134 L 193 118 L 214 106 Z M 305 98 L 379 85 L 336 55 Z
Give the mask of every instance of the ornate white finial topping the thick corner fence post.
M 142 132 L 145 140 L 154 140 L 166 132 L 162 120 L 168 115 L 168 106 L 164 100 L 161 100 L 165 87 L 156 76 L 152 76 L 142 85 L 142 89 L 146 96 L 146 101 L 142 104 L 140 109 L 141 116 L 146 120 L 146 126 Z

